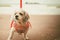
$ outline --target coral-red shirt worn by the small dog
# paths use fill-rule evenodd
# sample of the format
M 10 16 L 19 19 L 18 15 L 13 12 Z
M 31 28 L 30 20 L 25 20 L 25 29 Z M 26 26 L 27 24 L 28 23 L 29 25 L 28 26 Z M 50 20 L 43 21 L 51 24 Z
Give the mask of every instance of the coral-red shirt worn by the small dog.
M 31 24 L 30 24 L 29 21 L 26 22 L 25 27 L 23 27 L 22 25 L 18 25 L 14 20 L 12 20 L 12 22 L 10 24 L 10 27 L 14 27 L 16 29 L 16 31 L 18 31 L 18 30 L 24 30 L 24 28 L 28 29 L 29 26 L 31 26 Z

